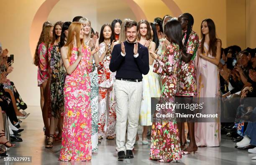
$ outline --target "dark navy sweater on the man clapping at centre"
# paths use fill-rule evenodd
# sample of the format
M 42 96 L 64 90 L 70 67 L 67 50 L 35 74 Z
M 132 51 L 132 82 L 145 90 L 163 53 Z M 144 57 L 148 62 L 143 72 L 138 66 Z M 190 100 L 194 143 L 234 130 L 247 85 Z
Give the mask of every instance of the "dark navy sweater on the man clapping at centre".
M 148 48 L 138 43 L 138 57 L 133 55 L 135 43 L 124 42 L 125 56 L 121 55 L 121 44 L 114 46 L 109 69 L 116 71 L 116 78 L 123 79 L 142 79 L 142 74 L 146 75 L 149 71 Z

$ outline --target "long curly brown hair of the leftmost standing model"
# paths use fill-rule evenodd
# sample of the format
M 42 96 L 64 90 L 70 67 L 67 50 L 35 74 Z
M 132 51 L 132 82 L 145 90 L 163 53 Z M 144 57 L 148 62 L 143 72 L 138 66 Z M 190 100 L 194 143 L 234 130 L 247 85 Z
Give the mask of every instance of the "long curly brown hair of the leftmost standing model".
M 34 55 L 34 61 L 33 64 L 35 64 L 35 66 L 38 66 L 39 64 L 39 55 L 38 55 L 38 47 L 41 43 L 44 43 L 46 45 L 46 48 L 48 49 L 49 43 L 51 42 L 51 36 L 50 36 L 50 32 L 51 32 L 51 28 L 53 27 L 53 25 L 46 25 L 40 35 L 39 41 L 36 45 L 36 52 Z

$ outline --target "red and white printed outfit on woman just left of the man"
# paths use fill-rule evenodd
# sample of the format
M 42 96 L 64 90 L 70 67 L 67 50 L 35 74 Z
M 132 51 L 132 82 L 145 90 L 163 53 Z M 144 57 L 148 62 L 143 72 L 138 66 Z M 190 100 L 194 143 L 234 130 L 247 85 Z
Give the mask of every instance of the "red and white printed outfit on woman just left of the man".
M 105 51 L 106 43 L 100 43 L 99 56 L 101 57 Z M 99 78 L 99 128 L 98 136 L 106 137 L 115 136 L 115 93 L 113 90 L 115 72 L 111 72 L 109 69 L 111 54 L 110 54 L 110 44 L 108 45 L 108 51 L 105 58 L 98 65 L 98 78 Z M 107 106 L 108 99 L 108 106 Z M 108 110 L 107 111 L 107 107 Z M 108 118 L 106 119 L 106 112 L 108 113 Z M 105 122 L 107 121 L 107 128 L 105 131 Z

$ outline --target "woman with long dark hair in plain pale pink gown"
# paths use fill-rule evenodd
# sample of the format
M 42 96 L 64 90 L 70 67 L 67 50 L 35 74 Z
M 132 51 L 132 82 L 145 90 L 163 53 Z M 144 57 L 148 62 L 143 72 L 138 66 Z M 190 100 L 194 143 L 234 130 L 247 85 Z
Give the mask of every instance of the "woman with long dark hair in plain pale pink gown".
M 209 33 L 212 35 L 210 36 Z M 215 37 L 215 25 L 211 19 L 201 24 L 202 40 L 197 51 L 197 93 L 204 99 L 206 114 L 220 112 L 220 78 L 218 63 L 220 62 L 221 41 Z M 209 46 L 209 43 L 214 43 Z M 212 104 L 215 100 L 214 104 Z M 217 147 L 220 145 L 220 119 L 214 122 L 195 123 L 195 140 L 197 146 Z

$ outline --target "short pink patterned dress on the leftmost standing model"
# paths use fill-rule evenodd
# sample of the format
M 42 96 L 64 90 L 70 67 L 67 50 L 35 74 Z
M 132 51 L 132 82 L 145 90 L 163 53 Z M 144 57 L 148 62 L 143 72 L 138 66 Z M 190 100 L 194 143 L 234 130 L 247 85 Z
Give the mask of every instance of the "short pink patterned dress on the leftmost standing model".
M 37 71 L 38 86 L 42 86 L 43 82 L 48 80 L 48 50 L 44 43 L 40 43 L 38 46 L 39 64 Z

